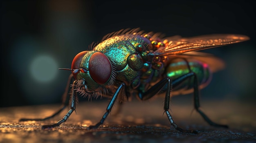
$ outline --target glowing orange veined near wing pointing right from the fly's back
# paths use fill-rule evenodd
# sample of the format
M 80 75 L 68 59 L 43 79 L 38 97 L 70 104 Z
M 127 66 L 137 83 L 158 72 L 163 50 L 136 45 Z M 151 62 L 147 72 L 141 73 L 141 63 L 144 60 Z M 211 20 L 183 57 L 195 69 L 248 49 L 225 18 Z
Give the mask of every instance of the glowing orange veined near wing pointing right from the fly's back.
M 171 37 L 168 45 L 157 49 L 154 55 L 177 55 L 190 51 L 199 51 L 249 40 L 245 35 L 213 34 L 190 38 Z

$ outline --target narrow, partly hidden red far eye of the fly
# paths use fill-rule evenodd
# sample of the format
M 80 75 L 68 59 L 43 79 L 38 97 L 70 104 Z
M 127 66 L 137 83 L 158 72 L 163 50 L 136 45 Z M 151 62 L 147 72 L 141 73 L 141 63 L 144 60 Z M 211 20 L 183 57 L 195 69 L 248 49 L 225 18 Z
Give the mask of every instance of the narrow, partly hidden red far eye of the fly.
M 71 65 L 71 68 L 72 68 L 72 69 L 79 69 L 79 68 L 80 68 L 81 60 L 82 60 L 83 56 L 84 56 L 87 52 L 88 52 L 88 51 L 80 52 L 80 53 L 78 53 L 78 54 L 74 57 L 73 62 L 72 62 L 72 65 Z M 72 73 L 73 73 L 73 77 L 76 79 L 76 75 L 79 73 L 79 70 L 74 70 Z

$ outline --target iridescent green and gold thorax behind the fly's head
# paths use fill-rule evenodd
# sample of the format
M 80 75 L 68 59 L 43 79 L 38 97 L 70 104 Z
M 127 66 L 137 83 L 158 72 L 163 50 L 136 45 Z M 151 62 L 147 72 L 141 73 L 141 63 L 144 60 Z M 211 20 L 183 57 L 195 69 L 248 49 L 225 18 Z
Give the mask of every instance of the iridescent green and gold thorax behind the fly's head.
M 136 88 L 140 83 L 138 79 L 141 76 L 141 69 L 147 62 L 143 59 L 142 53 L 150 51 L 150 49 L 152 49 L 152 45 L 146 37 L 127 34 L 110 37 L 93 50 L 100 51 L 112 62 L 117 73 L 117 80 Z

